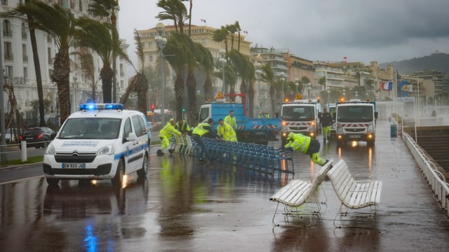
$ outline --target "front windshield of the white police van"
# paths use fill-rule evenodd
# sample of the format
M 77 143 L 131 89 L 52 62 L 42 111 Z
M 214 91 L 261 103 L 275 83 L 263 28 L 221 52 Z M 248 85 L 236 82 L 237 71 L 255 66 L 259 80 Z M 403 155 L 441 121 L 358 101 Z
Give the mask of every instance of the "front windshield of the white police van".
M 69 118 L 59 139 L 117 139 L 121 118 Z

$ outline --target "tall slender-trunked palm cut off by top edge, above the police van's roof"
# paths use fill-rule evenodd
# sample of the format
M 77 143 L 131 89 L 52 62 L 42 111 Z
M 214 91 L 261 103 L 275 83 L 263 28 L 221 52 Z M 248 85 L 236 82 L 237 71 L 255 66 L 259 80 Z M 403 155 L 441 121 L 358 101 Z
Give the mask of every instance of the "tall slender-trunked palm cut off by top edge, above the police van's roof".
M 119 43 L 119 36 L 114 36 L 114 34 L 119 34 L 117 31 L 117 13 L 119 13 L 119 0 L 92 0 L 89 4 L 89 12 L 91 12 L 95 17 L 110 18 L 112 24 L 112 38 L 114 44 Z M 112 51 L 112 100 L 111 102 L 116 102 L 116 58 L 119 56 L 119 51 L 113 48 Z M 109 85 L 109 83 L 107 83 Z M 109 90 L 109 87 L 106 87 Z M 105 92 L 105 89 L 103 89 Z M 107 95 L 109 97 L 109 94 Z M 104 100 L 103 94 L 103 100 Z

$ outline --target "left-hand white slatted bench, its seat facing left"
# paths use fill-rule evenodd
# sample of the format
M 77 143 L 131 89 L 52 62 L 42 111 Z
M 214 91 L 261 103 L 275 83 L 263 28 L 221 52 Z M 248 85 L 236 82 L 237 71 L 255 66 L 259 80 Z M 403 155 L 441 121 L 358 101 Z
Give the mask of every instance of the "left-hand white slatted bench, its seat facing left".
M 311 215 L 319 214 L 321 207 L 319 204 L 319 199 L 315 194 L 316 188 L 323 182 L 326 178 L 326 173 L 330 170 L 333 165 L 333 160 L 330 160 L 326 165 L 323 165 L 319 172 L 314 175 L 312 181 L 310 180 L 302 180 L 302 179 L 294 179 L 290 181 L 286 186 L 279 189 L 272 197 L 269 197 L 269 200 L 278 202 L 276 206 L 276 210 L 274 211 L 273 216 L 273 224 L 274 218 L 279 208 L 279 203 L 284 204 L 284 215 L 289 214 L 302 214 L 302 211 L 298 209 L 298 207 L 305 204 L 307 211 L 304 211 L 304 214 L 308 214 L 310 218 L 311 224 Z M 323 191 L 324 192 L 324 191 Z M 326 197 L 326 194 L 324 194 Z M 315 203 L 316 211 L 311 211 L 306 203 Z M 293 207 L 293 209 L 292 209 Z

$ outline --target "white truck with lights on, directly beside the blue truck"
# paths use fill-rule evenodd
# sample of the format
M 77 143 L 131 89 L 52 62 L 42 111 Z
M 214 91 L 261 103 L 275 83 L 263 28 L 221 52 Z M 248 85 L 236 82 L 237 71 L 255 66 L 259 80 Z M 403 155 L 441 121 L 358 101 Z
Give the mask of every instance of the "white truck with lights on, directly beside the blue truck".
M 318 99 L 295 99 L 281 105 L 282 145 L 286 144 L 290 132 L 316 138 L 319 133 L 319 113 L 321 104 Z

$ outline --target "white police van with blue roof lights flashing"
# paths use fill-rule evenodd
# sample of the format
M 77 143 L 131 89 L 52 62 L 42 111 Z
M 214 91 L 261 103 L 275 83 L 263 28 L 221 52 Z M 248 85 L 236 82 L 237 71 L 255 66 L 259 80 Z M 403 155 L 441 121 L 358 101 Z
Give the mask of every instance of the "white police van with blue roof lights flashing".
M 60 179 L 111 179 L 149 172 L 149 128 L 143 113 L 123 104 L 81 104 L 61 126 L 43 155 L 43 173 L 50 185 Z

